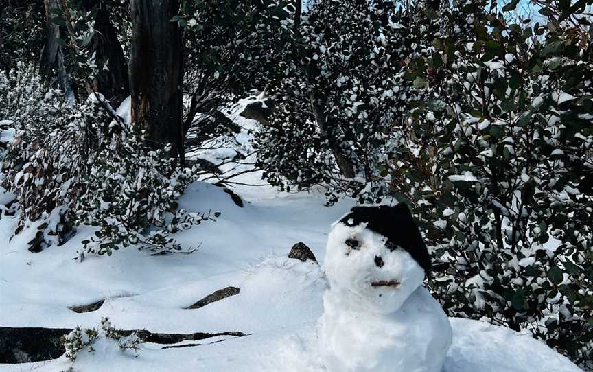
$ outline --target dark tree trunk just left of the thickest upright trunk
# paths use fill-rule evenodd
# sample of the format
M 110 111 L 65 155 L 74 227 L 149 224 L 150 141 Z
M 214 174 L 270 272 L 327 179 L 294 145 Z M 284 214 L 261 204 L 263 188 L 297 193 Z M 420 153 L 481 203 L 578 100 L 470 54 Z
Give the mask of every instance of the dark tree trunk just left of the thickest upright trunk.
M 87 11 L 97 7 L 97 33 L 93 38 L 93 50 L 97 53 L 97 60 L 106 60 L 108 67 L 108 70 L 97 74 L 92 82 L 92 90 L 102 93 L 108 100 L 118 104 L 130 95 L 130 82 L 128 62 L 117 38 L 117 29 L 111 22 L 110 9 L 102 0 L 86 0 L 83 6 Z

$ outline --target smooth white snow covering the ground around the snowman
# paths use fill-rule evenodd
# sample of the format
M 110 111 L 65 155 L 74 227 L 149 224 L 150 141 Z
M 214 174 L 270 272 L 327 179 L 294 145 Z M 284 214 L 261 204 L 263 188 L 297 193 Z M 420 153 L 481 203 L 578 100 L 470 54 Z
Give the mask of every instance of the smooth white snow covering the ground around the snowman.
M 247 146 L 242 139 L 239 142 Z M 216 153 L 200 156 L 217 158 Z M 244 174 L 233 181 L 262 183 L 258 177 Z M 92 229 L 79 229 L 63 246 L 30 253 L 26 234 L 9 242 L 16 220 L 1 219 L 0 326 L 96 328 L 102 317 L 108 317 L 123 329 L 248 334 L 172 349 L 147 343 L 137 356 L 100 340 L 95 353 L 80 354 L 75 371 L 323 371 L 316 322 L 327 288 L 325 242 L 330 224 L 354 201 L 325 207 L 321 194 L 235 186 L 244 207 L 235 205 L 222 188 L 201 181 L 183 196 L 181 207 L 188 211 L 222 212 L 216 222 L 178 234 L 183 246 L 199 247 L 190 255 L 151 256 L 128 249 L 78 263 L 73 257 Z M 321 267 L 288 259 L 296 242 L 307 244 Z M 240 288 L 240 293 L 199 309 L 184 309 L 227 286 Z M 105 302 L 94 312 L 79 314 L 68 308 L 100 299 Z M 580 371 L 527 334 L 477 321 L 451 319 L 451 323 L 453 345 L 445 372 Z M 69 367 L 71 362 L 62 356 L 47 362 L 0 364 L 0 371 L 58 372 Z

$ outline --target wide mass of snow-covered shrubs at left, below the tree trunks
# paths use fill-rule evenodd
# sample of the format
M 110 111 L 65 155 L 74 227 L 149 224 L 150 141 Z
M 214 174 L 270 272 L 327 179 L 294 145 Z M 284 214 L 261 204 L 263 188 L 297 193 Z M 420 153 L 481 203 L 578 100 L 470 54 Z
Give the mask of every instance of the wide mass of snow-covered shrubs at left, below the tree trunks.
M 208 218 L 178 209 L 194 170 L 174 170 L 166 149 L 147 146 L 96 100 L 68 106 L 57 91 L 43 95 L 32 67 L 2 76 L 0 97 L 23 96 L 0 110 L 16 130 L 3 162 L 4 187 L 16 195 L 15 233 L 36 229 L 31 251 L 62 244 L 80 224 L 98 228 L 83 241 L 81 259 L 132 245 L 178 251 L 170 235 Z

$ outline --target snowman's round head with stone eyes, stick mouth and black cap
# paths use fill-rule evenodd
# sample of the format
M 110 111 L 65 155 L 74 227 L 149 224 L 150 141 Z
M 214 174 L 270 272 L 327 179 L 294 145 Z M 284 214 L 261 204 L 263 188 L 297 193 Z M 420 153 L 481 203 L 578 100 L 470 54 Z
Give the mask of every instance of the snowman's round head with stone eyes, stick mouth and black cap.
M 347 297 L 346 302 L 382 314 L 395 312 L 429 270 L 426 245 L 404 204 L 353 207 L 332 225 L 325 272 L 332 292 Z

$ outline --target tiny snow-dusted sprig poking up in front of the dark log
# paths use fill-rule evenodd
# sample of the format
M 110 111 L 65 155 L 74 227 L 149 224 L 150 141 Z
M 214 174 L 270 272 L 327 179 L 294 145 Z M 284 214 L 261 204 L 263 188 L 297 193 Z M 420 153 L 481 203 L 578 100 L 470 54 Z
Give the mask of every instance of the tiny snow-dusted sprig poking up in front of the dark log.
M 136 353 L 142 343 L 141 338 L 135 332 L 131 332 L 127 336 L 124 336 L 124 333 L 127 332 L 122 332 L 121 329 L 113 327 L 108 318 L 101 318 L 99 330 L 94 328 L 82 329 L 80 326 L 76 326 L 72 332 L 62 337 L 62 345 L 66 349 L 65 356 L 71 362 L 75 362 L 81 351 L 86 350 L 89 353 L 94 353 L 93 345 L 100 340 L 115 342 L 121 351 L 132 350 Z

